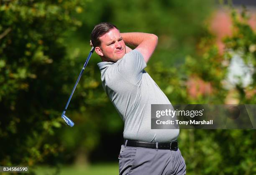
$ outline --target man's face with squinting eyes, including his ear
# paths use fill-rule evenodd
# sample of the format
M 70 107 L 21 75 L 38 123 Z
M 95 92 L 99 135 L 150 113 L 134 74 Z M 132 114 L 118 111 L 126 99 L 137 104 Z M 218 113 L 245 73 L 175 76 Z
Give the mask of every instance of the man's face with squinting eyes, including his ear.
M 125 55 L 125 43 L 120 32 L 113 28 L 100 38 L 101 46 L 95 48 L 96 52 L 104 57 L 104 61 L 118 61 Z

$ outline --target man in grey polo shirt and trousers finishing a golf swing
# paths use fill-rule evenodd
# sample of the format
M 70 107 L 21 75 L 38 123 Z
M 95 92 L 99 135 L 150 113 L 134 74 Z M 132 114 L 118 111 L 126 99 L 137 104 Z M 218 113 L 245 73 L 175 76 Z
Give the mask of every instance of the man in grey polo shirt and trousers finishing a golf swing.
M 90 45 L 102 59 L 103 88 L 124 122 L 120 175 L 186 174 L 176 141 L 179 129 L 151 129 L 151 104 L 171 104 L 144 70 L 157 42 L 154 34 L 120 33 L 110 23 L 96 25 L 91 33 Z

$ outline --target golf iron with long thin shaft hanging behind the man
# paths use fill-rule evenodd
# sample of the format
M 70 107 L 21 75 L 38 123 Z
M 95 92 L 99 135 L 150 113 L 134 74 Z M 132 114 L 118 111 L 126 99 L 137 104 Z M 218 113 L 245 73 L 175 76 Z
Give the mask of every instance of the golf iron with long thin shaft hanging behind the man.
M 65 113 L 66 113 L 67 107 L 68 107 L 68 105 L 69 105 L 69 102 L 70 102 L 70 100 L 71 100 L 71 98 L 72 98 L 72 95 L 73 95 L 73 93 L 74 93 L 74 90 L 75 90 L 76 87 L 77 87 L 77 84 L 78 84 L 78 82 L 79 82 L 79 80 L 80 80 L 80 78 L 81 78 L 81 76 L 82 76 L 82 74 L 83 74 L 83 72 L 84 72 L 84 69 L 85 69 L 86 65 L 88 64 L 88 62 L 89 62 L 89 60 L 90 60 L 90 57 L 92 56 L 93 51 L 94 51 L 94 47 L 92 47 L 92 49 L 91 49 L 91 51 L 90 51 L 90 53 L 89 53 L 89 55 L 88 55 L 88 57 L 87 57 L 87 59 L 86 59 L 86 61 L 85 61 L 85 63 L 84 63 L 84 67 L 82 68 L 82 70 L 81 70 L 81 72 L 80 72 L 80 74 L 79 74 L 79 76 L 78 76 L 77 82 L 76 82 L 76 84 L 74 85 L 74 88 L 73 88 L 73 90 L 72 90 L 72 92 L 71 92 L 71 95 L 70 95 L 70 97 L 69 97 L 69 100 L 68 100 L 68 102 L 67 102 L 67 105 L 66 105 L 66 107 L 65 107 L 65 109 L 64 109 L 64 111 L 62 112 L 62 115 L 61 115 L 61 118 L 67 123 L 67 125 L 69 125 L 69 126 L 71 126 L 71 127 L 74 126 L 74 122 L 73 122 L 72 120 L 70 120 L 69 117 L 67 117 L 67 116 L 65 115 Z

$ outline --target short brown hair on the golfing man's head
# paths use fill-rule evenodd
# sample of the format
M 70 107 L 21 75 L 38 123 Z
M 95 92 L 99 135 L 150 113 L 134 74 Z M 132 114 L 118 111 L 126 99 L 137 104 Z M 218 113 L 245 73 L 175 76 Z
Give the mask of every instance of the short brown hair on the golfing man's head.
M 103 22 L 103 23 L 95 25 L 95 27 L 91 33 L 91 41 L 92 41 L 93 47 L 100 46 L 101 41 L 100 41 L 99 37 L 105 35 L 113 28 L 116 28 L 117 30 L 119 30 L 115 25 L 113 25 L 111 23 Z

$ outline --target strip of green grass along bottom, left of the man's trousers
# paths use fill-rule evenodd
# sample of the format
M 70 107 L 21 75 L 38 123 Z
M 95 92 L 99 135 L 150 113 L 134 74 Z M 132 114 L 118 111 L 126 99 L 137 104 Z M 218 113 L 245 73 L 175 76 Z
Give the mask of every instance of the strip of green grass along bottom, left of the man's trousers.
M 36 175 L 118 175 L 118 163 L 82 166 L 63 166 L 59 168 L 40 166 L 34 169 Z

